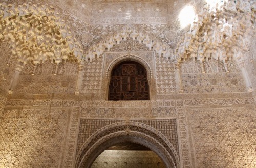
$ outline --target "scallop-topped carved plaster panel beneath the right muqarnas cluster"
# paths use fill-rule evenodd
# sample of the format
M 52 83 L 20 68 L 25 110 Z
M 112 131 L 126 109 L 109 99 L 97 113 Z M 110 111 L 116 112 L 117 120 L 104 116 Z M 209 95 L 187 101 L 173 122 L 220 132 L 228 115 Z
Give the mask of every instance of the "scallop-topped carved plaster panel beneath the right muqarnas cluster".
M 201 73 L 199 62 L 189 60 L 181 64 L 184 93 L 231 93 L 245 92 L 244 78 L 235 61 L 228 61 L 229 73 L 223 62 L 204 62 L 205 73 Z

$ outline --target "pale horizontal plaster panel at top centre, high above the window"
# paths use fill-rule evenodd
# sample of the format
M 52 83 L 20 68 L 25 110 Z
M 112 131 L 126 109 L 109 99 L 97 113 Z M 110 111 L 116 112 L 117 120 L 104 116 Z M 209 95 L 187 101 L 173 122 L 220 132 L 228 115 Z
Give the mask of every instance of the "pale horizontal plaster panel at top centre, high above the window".
M 166 2 L 93 3 L 91 24 L 167 23 Z

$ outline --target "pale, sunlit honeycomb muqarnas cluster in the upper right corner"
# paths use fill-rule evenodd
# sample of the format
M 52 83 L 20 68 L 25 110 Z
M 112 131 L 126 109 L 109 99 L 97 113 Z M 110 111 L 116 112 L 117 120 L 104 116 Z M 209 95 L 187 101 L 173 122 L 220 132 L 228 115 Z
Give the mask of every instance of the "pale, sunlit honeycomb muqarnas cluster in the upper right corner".
M 175 58 L 178 62 L 193 58 L 200 63 L 211 58 L 223 63 L 231 59 L 242 61 L 242 52 L 248 51 L 255 35 L 255 9 L 256 3 L 252 1 L 230 1 L 212 9 L 205 4 L 198 21 L 177 43 Z

